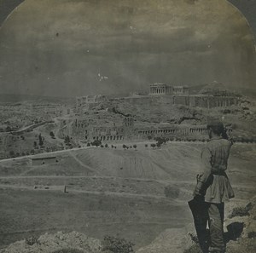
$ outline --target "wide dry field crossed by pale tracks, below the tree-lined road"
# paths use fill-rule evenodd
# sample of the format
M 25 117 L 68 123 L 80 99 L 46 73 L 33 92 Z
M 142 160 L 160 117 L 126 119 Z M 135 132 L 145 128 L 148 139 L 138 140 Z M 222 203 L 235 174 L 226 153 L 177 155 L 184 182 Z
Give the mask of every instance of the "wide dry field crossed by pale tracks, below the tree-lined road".
M 29 158 L 2 161 L 1 247 L 31 235 L 75 230 L 98 239 L 130 239 L 139 248 L 166 228 L 183 227 L 192 221 L 187 200 L 203 145 L 81 149 L 61 152 L 57 164 L 38 166 Z M 232 147 L 228 174 L 234 202 L 256 194 L 255 151 L 253 144 Z

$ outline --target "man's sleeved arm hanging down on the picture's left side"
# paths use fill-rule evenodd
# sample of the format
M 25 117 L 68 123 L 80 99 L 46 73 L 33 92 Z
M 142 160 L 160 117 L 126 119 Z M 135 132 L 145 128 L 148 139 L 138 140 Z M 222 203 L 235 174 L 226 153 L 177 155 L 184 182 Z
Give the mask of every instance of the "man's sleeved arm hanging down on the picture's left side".
M 203 171 L 200 175 L 197 175 L 197 185 L 195 187 L 194 195 L 204 196 L 207 180 L 212 173 L 212 154 L 207 147 L 201 152 L 201 163 Z

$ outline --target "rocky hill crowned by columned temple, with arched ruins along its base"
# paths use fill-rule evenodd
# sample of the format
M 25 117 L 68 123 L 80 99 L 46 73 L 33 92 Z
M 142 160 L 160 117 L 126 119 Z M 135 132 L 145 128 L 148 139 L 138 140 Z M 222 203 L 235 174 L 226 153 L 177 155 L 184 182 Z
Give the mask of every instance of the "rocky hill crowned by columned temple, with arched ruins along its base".
M 207 85 L 189 95 L 188 86 L 165 83 L 149 85 L 148 93 L 126 97 L 86 95 L 76 100 L 71 128 L 77 140 L 123 141 L 166 137 L 170 140 L 206 140 L 207 120 L 224 121 L 231 135 L 234 115 L 241 108 L 241 95 Z M 238 110 L 238 111 L 237 111 Z M 66 122 L 63 123 L 66 124 Z M 235 135 L 240 135 L 236 133 Z

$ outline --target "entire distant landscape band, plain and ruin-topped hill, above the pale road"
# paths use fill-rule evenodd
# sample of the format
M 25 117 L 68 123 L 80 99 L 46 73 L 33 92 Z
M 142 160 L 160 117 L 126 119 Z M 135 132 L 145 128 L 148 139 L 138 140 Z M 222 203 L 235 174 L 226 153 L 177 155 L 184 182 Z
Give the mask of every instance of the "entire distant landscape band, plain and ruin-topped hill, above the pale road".
M 103 146 L 156 138 L 206 141 L 207 121 L 212 118 L 224 123 L 234 141 L 256 141 L 255 102 L 218 83 L 198 87 L 154 83 L 148 84 L 148 91 L 130 95 L 25 100 L 0 106 L 0 158 L 84 147 L 94 141 Z

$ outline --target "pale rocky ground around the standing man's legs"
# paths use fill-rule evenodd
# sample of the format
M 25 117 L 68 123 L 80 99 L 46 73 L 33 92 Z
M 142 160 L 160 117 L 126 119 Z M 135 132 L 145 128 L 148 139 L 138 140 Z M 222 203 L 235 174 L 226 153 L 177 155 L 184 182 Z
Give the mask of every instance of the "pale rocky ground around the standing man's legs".
M 247 204 L 230 203 L 226 208 L 224 235 L 227 253 L 256 252 L 256 198 Z M 137 253 L 201 253 L 193 224 L 167 229 Z

